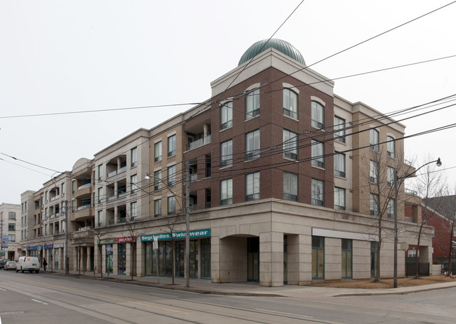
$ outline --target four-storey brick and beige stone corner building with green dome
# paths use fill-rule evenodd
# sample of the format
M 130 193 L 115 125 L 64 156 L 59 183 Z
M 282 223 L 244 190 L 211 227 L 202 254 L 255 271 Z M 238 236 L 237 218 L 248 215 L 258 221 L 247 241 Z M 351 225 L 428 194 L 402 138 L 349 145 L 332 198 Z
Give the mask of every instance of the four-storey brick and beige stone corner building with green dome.
M 413 169 L 403 159 L 405 126 L 334 95 L 334 82 L 289 43 L 265 43 L 211 83 L 207 104 L 75 163 L 72 269 L 184 276 L 188 203 L 192 278 L 267 286 L 371 278 L 379 216 L 381 276 L 393 276 L 391 175 Z M 398 194 L 404 276 L 418 227 L 404 216 L 403 186 Z M 431 239 L 421 245 L 429 262 Z

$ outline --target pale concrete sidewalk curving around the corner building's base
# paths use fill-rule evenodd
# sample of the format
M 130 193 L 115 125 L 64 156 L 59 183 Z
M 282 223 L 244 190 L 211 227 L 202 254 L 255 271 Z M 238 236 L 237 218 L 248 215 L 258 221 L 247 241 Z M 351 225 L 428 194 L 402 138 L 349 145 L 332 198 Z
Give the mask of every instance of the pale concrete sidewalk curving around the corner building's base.
M 79 276 L 78 271 L 54 270 L 40 271 L 41 274 L 60 275 L 60 276 Z M 93 276 L 92 272 L 81 272 L 81 277 L 93 278 L 94 280 L 115 281 L 119 283 L 128 283 L 132 285 L 147 285 L 150 287 L 159 287 L 163 289 L 185 290 L 197 292 L 200 294 L 215 295 L 237 295 L 237 296 L 261 296 L 261 297 L 347 297 L 347 296 L 370 296 L 370 295 L 405 295 L 413 292 L 422 292 L 427 290 L 438 290 L 456 287 L 456 281 L 448 283 L 434 283 L 430 285 L 417 285 L 413 287 L 398 287 L 390 289 L 353 289 L 353 288 L 331 288 L 315 287 L 311 285 L 284 285 L 283 287 L 261 287 L 259 283 L 211 283 L 210 280 L 190 279 L 190 286 L 185 287 L 184 278 L 175 278 L 175 284 L 172 284 L 170 277 L 136 277 L 113 275 L 107 276 L 100 274 Z

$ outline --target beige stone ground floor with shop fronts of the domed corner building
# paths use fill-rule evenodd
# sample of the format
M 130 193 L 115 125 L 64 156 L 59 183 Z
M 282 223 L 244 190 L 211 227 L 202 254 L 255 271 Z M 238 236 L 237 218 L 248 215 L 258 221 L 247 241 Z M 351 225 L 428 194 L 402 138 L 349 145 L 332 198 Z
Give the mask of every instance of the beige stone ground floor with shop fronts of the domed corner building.
M 400 223 L 405 231 L 398 239 L 397 264 L 398 276 L 403 277 L 404 252 L 416 244 L 417 226 Z M 384 220 L 381 278 L 394 276 L 393 226 Z M 155 234 L 138 236 L 122 236 L 125 232 L 111 229 L 110 238 L 95 242 L 95 271 L 185 277 L 185 224 L 178 224 L 172 234 L 161 228 L 151 221 L 142 229 Z M 377 271 L 375 217 L 353 212 L 283 201 L 244 203 L 192 212 L 189 234 L 189 276 L 214 283 L 304 285 L 373 278 Z M 420 251 L 420 262 L 430 262 L 430 239 L 422 238 Z

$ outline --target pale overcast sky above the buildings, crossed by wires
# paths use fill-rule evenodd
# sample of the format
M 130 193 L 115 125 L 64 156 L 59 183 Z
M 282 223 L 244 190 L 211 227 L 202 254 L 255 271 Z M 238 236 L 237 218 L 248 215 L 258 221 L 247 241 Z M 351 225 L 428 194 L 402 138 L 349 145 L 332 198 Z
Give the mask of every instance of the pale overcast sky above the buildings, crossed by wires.
M 269 39 L 300 2 L 0 0 L 0 203 L 20 203 L 22 192 L 53 175 L 3 154 L 72 170 L 79 158 L 192 106 L 4 117 L 203 102 L 210 82 L 234 69 L 255 41 Z M 307 0 L 274 37 L 312 65 L 446 4 Z M 455 17 L 451 4 L 311 69 L 337 78 L 456 55 Z M 334 92 L 385 114 L 424 104 L 456 93 L 456 58 L 340 79 Z M 456 108 L 403 123 L 406 135 L 446 126 L 456 123 Z M 405 142 L 417 164 L 440 156 L 451 186 L 455 130 Z

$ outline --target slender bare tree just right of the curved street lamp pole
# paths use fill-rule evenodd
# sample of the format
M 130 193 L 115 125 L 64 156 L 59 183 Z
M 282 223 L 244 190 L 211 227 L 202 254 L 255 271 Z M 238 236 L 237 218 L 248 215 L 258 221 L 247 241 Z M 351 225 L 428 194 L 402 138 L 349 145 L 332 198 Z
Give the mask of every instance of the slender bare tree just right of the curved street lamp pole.
M 422 199 L 422 217 L 419 224 L 419 229 L 417 233 L 417 253 L 415 255 L 415 279 L 420 278 L 420 243 L 421 238 L 424 234 L 423 228 L 424 225 L 427 225 L 429 220 L 434 217 L 436 214 L 434 211 L 429 209 L 429 198 L 433 198 L 433 210 L 440 209 L 442 203 L 442 193 L 443 193 L 443 173 L 436 172 L 436 164 L 429 163 L 432 158 L 428 155 L 424 159 L 423 168 L 421 175 L 417 177 L 416 186 L 418 195 Z

